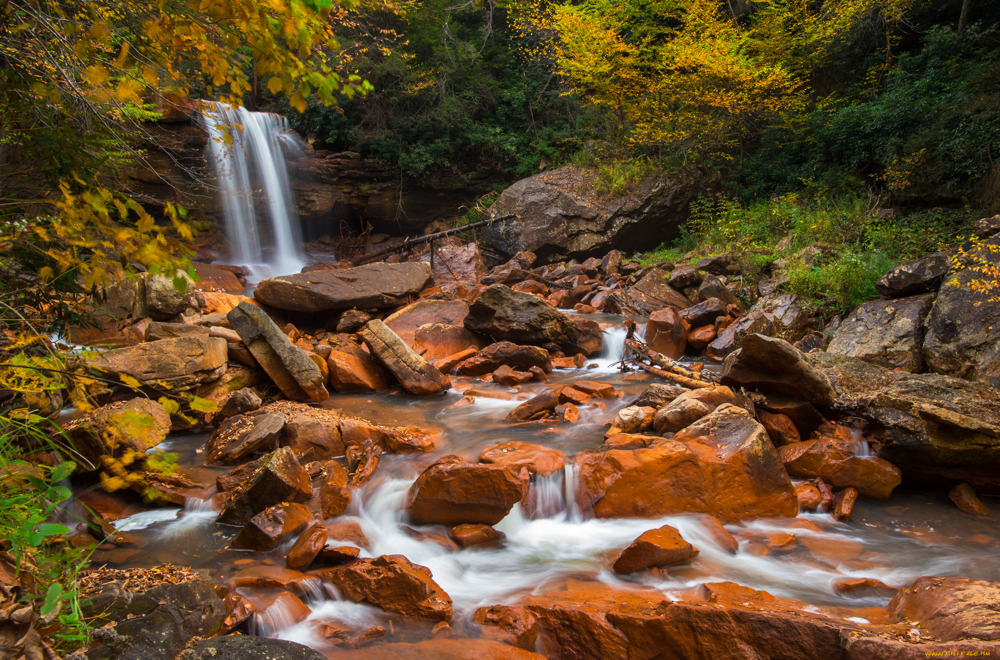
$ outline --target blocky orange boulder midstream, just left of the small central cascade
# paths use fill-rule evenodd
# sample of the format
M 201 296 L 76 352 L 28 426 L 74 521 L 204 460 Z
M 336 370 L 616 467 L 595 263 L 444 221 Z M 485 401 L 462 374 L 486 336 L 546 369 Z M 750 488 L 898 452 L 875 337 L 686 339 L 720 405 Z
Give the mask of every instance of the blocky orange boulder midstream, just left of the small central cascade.
M 527 470 L 438 459 L 410 487 L 408 511 L 417 524 L 495 525 L 528 491 Z

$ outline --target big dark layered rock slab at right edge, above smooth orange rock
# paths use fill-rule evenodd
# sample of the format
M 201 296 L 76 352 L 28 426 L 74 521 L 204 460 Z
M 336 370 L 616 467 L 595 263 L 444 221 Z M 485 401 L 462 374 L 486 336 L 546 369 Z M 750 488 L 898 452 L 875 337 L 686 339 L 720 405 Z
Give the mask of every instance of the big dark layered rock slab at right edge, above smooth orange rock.
M 858 358 L 809 353 L 836 390 L 831 407 L 867 423 L 880 458 L 904 481 L 1000 494 L 1000 393 L 939 374 L 897 373 Z

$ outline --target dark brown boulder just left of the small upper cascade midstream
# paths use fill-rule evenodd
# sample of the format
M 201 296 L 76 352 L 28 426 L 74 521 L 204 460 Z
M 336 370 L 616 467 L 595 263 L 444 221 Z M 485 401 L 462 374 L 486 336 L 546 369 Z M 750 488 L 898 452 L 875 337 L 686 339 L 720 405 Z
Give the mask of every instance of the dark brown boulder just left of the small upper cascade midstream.
M 591 355 L 601 349 L 597 323 L 570 317 L 538 296 L 494 284 L 469 306 L 465 327 L 496 340 L 555 343 Z

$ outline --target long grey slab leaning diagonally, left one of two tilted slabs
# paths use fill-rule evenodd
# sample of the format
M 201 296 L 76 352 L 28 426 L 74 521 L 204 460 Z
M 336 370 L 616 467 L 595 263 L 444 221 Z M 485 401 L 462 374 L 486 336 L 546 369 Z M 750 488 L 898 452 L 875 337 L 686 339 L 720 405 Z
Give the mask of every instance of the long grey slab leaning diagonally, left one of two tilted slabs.
M 244 302 L 230 310 L 226 318 L 285 396 L 293 401 L 320 402 L 329 398 L 319 367 L 289 341 L 264 310 Z

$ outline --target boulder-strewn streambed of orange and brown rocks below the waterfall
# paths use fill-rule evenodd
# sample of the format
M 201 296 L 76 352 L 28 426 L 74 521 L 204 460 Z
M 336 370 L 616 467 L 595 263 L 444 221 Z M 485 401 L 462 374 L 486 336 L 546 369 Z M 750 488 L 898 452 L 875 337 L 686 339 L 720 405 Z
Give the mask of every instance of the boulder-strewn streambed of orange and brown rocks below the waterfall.
M 975 527 L 963 542 L 997 548 L 980 531 L 1000 495 L 993 331 L 965 320 L 962 273 L 941 255 L 904 264 L 885 298 L 824 328 L 779 283 L 751 283 L 747 251 L 602 256 L 602 226 L 649 220 L 628 200 L 549 236 L 528 193 L 569 204 L 561 181 L 504 193 L 495 210 L 517 220 L 491 228 L 509 254 L 491 269 L 475 244 L 444 241 L 433 266 L 313 270 L 253 299 L 209 306 L 153 278 L 109 298 L 112 334 L 141 340 L 81 357 L 123 384 L 64 425 L 87 507 L 67 542 L 113 558 L 84 578 L 102 626 L 90 657 L 1000 653 L 1000 583 L 898 578 L 831 532 L 861 536 L 872 511 L 905 508 L 901 492 L 937 493 Z M 553 263 L 567 256 L 587 258 Z M 618 332 L 595 312 L 633 318 Z M 620 372 L 601 366 L 615 355 Z M 151 458 L 171 432 L 197 444 L 176 472 Z M 173 537 L 118 529 L 171 504 L 181 520 L 211 512 L 196 532 L 213 539 L 210 570 L 140 566 L 150 539 Z M 545 554 L 527 553 L 525 530 Z M 563 556 L 592 541 L 585 560 Z M 783 558 L 829 576 L 823 602 L 717 577 L 760 581 L 744 569 Z

